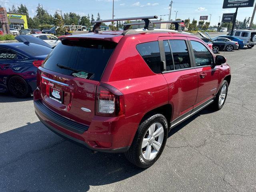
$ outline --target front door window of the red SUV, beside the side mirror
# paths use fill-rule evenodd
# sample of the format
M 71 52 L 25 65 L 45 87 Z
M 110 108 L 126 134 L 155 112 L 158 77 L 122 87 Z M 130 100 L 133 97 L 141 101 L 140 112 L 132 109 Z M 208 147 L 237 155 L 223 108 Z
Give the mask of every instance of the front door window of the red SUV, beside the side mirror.
M 195 55 L 196 66 L 212 65 L 214 62 L 210 51 L 200 42 L 190 41 Z

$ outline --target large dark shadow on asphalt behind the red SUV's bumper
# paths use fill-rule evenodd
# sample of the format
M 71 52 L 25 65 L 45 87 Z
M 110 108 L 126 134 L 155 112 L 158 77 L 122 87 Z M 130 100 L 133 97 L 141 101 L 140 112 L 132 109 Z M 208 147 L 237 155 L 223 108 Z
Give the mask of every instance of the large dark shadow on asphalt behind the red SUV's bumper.
M 0 134 L 0 191 L 87 191 L 143 170 L 122 154 L 91 154 L 41 122 Z

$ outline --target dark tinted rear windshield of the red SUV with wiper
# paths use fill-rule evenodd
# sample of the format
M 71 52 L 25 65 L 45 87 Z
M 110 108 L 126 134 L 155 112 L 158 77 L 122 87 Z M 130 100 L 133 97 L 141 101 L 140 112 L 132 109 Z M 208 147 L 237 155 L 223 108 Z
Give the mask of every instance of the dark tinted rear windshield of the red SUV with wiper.
M 48 55 L 42 67 L 99 81 L 116 45 L 110 41 L 64 39 Z

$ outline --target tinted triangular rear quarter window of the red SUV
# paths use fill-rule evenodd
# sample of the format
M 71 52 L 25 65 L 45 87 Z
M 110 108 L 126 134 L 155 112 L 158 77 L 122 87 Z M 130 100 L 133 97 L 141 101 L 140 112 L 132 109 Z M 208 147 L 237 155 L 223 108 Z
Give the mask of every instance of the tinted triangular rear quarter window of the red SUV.
M 138 44 L 136 48 L 149 68 L 155 73 L 161 73 L 161 57 L 158 41 Z

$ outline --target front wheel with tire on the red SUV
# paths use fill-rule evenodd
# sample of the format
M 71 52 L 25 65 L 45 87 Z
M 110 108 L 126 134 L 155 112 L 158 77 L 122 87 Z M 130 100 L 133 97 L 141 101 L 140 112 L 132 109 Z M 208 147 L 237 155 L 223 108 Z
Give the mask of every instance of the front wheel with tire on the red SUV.
M 226 92 L 223 92 L 225 88 L 226 88 Z M 224 93 L 225 95 L 223 95 Z M 228 82 L 224 80 L 222 82 L 219 92 L 216 94 L 214 102 L 211 105 L 212 110 L 215 110 L 215 111 L 220 110 L 225 104 L 227 95 L 228 95 Z

